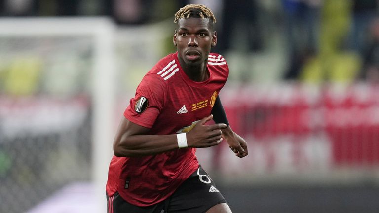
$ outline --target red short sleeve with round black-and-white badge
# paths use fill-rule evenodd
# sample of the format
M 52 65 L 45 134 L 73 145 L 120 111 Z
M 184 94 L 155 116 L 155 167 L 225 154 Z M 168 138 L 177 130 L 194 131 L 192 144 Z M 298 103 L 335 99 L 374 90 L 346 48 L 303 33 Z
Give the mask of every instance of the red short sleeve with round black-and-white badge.
M 165 102 L 166 84 L 158 77 L 156 74 L 145 75 L 124 111 L 126 119 L 152 128 Z

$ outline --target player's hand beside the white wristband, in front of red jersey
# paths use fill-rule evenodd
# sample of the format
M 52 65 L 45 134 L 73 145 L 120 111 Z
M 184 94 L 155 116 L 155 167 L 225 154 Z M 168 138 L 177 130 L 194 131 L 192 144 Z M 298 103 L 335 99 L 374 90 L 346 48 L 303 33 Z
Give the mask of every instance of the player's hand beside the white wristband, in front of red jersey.
M 206 123 L 212 120 L 213 115 L 209 115 L 201 119 L 196 125 L 187 133 L 188 147 L 204 148 L 218 145 L 223 138 L 221 137 L 221 130 L 226 128 L 226 124 L 212 124 Z

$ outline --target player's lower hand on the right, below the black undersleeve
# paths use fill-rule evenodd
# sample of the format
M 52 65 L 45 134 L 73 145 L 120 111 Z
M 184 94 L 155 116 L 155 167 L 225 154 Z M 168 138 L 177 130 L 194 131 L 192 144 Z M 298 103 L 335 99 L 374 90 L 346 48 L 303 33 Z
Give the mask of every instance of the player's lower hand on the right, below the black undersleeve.
M 239 135 L 237 135 L 230 126 L 222 130 L 222 137 L 227 140 L 229 148 L 235 153 L 237 157 L 243 158 L 248 155 L 247 143 Z

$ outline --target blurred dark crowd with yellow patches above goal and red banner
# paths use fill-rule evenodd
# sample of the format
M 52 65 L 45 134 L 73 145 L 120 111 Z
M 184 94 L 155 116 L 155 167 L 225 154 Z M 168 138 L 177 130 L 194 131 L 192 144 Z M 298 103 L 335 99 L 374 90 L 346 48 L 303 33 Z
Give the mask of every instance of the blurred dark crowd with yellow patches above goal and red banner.
M 268 78 L 317 83 L 378 78 L 376 0 L 1 0 L 0 15 L 107 16 L 119 26 L 137 26 L 170 19 L 189 3 L 206 4 L 216 14 L 215 51 L 281 52 L 284 62 Z M 245 80 L 254 77 L 248 68 L 239 69 Z

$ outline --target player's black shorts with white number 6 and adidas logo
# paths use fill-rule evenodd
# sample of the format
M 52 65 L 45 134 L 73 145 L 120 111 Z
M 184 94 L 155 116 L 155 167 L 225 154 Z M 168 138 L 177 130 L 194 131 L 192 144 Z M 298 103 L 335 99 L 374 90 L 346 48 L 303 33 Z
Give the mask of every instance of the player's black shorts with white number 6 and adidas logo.
M 224 196 L 201 166 L 166 200 L 147 207 L 129 204 L 116 192 L 108 197 L 108 213 L 205 213 L 226 203 Z

